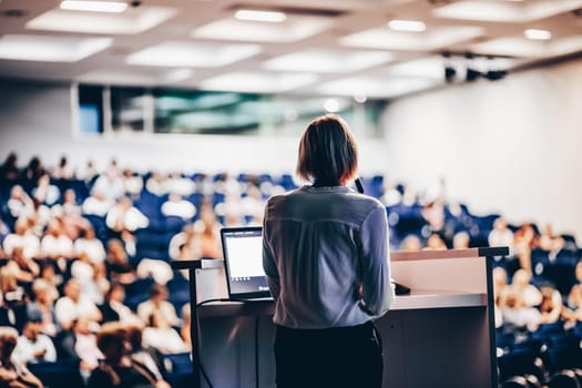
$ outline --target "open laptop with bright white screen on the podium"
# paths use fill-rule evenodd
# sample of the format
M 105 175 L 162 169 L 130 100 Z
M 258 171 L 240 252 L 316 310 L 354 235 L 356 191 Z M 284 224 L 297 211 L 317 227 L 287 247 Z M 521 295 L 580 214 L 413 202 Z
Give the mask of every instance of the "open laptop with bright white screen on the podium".
M 272 299 L 263 269 L 263 228 L 221 228 L 229 299 Z

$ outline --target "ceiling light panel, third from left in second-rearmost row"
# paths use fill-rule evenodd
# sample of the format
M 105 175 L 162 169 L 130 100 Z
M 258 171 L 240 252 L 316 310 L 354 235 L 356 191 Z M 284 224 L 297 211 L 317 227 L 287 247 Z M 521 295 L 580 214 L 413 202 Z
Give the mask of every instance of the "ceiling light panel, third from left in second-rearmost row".
M 304 50 L 264 62 L 263 68 L 276 71 L 344 73 L 389 62 L 394 55 L 386 51 Z

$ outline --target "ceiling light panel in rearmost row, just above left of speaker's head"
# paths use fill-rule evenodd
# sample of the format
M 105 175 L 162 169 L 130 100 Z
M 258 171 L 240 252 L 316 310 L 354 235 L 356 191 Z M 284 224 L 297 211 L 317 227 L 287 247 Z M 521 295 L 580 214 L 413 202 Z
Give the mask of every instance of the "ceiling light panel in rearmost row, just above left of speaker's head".
M 312 84 L 318 80 L 313 73 L 235 72 L 218 75 L 201 83 L 205 90 L 253 93 L 279 93 Z

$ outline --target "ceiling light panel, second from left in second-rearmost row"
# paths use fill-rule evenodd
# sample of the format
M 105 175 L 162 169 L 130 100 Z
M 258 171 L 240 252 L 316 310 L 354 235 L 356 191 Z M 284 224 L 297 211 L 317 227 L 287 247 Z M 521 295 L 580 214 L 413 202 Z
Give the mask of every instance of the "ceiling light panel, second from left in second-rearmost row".
M 164 42 L 127 57 L 129 64 L 175 68 L 219 68 L 261 52 L 258 44 Z

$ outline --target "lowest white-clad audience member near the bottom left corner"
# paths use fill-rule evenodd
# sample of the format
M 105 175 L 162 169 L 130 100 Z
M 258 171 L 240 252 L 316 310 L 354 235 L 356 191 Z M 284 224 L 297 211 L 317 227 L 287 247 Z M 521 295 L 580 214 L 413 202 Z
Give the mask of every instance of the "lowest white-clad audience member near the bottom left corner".
M 52 339 L 41 333 L 41 321 L 35 319 L 24 325 L 12 355 L 14 360 L 22 364 L 57 361 L 57 349 Z

